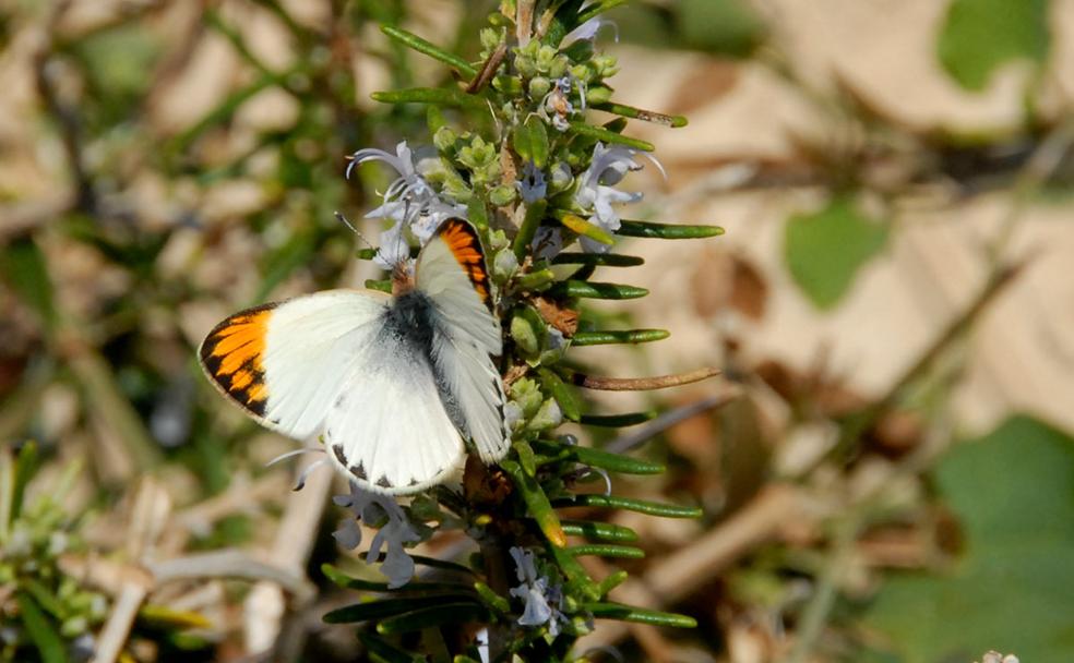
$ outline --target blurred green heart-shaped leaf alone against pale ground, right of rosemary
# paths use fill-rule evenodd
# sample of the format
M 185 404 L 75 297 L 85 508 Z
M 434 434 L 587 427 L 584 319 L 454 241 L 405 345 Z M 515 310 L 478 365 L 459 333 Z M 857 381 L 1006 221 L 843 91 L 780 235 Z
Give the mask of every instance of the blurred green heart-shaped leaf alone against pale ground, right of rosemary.
M 784 256 L 795 282 L 820 309 L 831 309 L 854 277 L 884 248 L 887 226 L 862 214 L 849 195 L 787 220 Z

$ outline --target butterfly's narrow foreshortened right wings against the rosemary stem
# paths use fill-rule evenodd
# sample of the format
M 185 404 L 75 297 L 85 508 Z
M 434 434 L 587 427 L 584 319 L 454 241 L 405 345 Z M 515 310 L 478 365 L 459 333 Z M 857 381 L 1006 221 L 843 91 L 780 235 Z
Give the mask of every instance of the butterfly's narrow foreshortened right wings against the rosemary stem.
M 500 325 L 488 308 L 489 281 L 480 241 L 469 224 L 445 221 L 418 258 L 417 288 L 432 302 L 432 361 L 456 424 L 485 462 L 506 454 L 506 397 L 490 354 L 502 352 Z

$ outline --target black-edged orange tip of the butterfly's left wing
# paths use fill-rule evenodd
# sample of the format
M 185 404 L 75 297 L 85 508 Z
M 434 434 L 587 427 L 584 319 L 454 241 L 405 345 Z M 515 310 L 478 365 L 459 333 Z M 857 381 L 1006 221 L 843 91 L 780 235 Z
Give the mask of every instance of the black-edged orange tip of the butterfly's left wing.
M 265 333 L 275 304 L 248 309 L 228 317 L 208 333 L 201 347 L 202 365 L 220 390 L 263 417 L 268 400 L 265 371 Z

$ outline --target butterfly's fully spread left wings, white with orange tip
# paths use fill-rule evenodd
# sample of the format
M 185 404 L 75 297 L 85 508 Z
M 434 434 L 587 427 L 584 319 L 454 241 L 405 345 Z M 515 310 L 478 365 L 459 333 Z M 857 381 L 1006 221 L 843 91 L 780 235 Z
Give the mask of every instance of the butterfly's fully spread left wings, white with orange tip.
M 429 360 L 385 333 L 389 296 L 329 290 L 237 313 L 202 343 L 214 384 L 263 425 L 321 434 L 368 490 L 406 493 L 462 465 Z

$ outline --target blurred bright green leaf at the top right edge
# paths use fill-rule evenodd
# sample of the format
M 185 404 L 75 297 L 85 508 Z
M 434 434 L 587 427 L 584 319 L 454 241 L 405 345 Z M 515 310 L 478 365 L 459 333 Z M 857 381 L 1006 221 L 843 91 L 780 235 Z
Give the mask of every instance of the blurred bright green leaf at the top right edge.
M 954 0 L 936 52 L 959 85 L 979 91 L 1011 60 L 1042 62 L 1050 40 L 1048 0 Z

